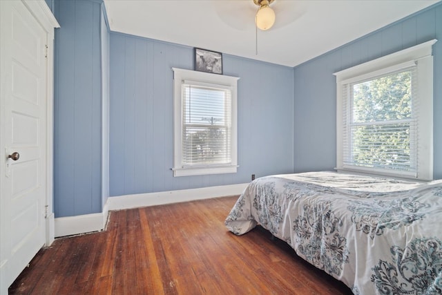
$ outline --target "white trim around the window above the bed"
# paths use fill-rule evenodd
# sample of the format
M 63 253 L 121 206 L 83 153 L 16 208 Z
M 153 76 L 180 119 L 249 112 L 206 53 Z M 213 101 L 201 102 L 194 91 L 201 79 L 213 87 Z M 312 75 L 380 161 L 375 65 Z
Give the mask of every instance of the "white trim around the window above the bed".
M 425 43 L 368 61 L 364 64 L 354 66 L 334 73 L 336 76 L 336 169 L 338 171 L 356 171 L 363 173 L 376 173 L 405 177 L 400 173 L 387 171 L 374 171 L 374 169 L 345 166 L 343 164 L 343 85 L 355 79 L 363 77 L 374 77 L 385 70 L 400 68 L 401 66 L 415 63 L 418 71 L 419 83 L 419 161 L 416 178 L 419 180 L 433 179 L 433 57 L 432 45 L 436 43 L 432 39 Z

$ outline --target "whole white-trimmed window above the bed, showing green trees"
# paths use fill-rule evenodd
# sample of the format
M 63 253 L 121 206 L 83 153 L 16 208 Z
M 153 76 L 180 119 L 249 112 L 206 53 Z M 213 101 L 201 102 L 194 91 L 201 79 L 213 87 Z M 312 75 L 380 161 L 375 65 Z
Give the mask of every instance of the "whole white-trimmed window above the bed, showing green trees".
M 334 74 L 338 170 L 432 180 L 435 42 Z

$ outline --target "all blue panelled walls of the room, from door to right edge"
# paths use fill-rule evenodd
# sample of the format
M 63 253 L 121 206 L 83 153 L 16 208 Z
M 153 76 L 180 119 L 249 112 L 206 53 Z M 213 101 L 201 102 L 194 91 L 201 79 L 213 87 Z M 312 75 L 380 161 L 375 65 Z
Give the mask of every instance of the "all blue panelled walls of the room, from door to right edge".
M 294 69 L 224 55 L 224 74 L 240 77 L 238 173 L 173 178 L 171 68 L 192 69 L 193 48 L 108 35 L 101 0 L 46 3 L 61 25 L 55 32 L 56 217 L 101 212 L 109 195 L 236 184 L 248 182 L 251 173 L 333 169 L 332 74 L 433 38 L 439 39 L 434 177 L 442 178 L 442 4 Z

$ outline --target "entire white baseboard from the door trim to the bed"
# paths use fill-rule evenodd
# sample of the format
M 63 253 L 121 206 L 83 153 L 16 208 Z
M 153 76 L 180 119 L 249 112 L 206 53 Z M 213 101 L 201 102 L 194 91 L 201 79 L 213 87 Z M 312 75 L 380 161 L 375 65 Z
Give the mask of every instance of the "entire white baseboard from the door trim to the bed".
M 91 231 L 102 231 L 106 228 L 108 212 L 111 210 L 133 209 L 159 204 L 189 202 L 240 195 L 248 183 L 222 185 L 220 187 L 203 187 L 200 189 L 182 189 L 178 191 L 160 191 L 157 193 L 140 193 L 109 197 L 102 213 L 85 214 L 55 218 L 55 238 L 85 234 Z

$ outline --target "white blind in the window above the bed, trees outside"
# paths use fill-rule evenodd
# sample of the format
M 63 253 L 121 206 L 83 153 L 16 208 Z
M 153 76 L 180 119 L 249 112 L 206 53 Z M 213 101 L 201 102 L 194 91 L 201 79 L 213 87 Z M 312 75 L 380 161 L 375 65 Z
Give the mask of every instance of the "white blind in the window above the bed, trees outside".
M 343 84 L 343 164 L 416 175 L 416 66 Z

